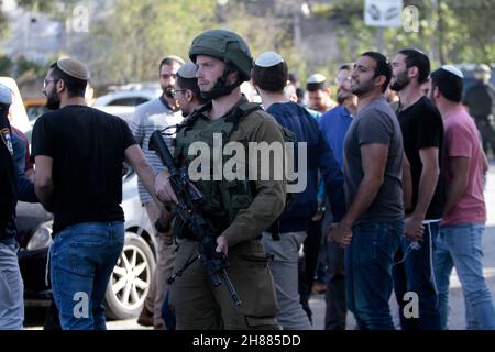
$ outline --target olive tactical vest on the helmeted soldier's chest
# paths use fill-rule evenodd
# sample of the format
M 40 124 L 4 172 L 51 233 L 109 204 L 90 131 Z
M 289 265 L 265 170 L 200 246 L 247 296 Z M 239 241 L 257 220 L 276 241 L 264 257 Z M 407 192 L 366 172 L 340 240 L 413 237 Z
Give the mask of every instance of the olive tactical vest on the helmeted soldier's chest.
M 210 148 L 211 167 L 208 173 L 210 179 L 194 182 L 194 184 L 205 195 L 206 201 L 201 210 L 210 219 L 219 234 L 229 227 L 241 209 L 251 205 L 256 190 L 254 183 L 250 182 L 248 177 L 248 163 L 245 163 L 244 179 L 227 180 L 222 174 L 221 180 L 213 180 L 213 134 L 220 133 L 222 136 L 221 148 L 219 150 L 217 145 L 217 151 L 219 150 L 220 153 L 217 155 L 217 161 L 222 161 L 221 169 L 223 169 L 224 163 L 232 157 L 231 155 L 223 155 L 223 146 L 229 142 L 230 135 L 238 128 L 241 119 L 260 109 L 262 108 L 258 103 L 245 102 L 233 109 L 227 117 L 216 121 L 205 119 L 201 110 L 196 110 L 176 131 L 174 158 L 180 167 L 189 165 L 197 157 L 197 155 L 188 155 L 191 143 L 204 142 Z M 283 134 L 285 140 L 294 141 L 290 132 L 284 130 Z M 248 145 L 244 145 L 246 157 L 249 155 L 248 150 Z M 179 232 L 184 233 L 187 230 L 183 229 Z M 184 234 L 188 238 L 187 233 Z M 182 237 L 180 233 L 177 233 L 177 235 Z

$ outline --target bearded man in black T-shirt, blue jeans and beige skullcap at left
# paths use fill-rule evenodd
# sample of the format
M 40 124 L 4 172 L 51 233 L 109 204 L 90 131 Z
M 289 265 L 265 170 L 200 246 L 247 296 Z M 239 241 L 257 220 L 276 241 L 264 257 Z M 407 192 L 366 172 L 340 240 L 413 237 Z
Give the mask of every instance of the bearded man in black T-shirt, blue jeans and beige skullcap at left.
M 33 129 L 35 193 L 54 213 L 53 298 L 63 329 L 106 329 L 103 298 L 124 243 L 122 163 L 154 194 L 155 173 L 122 119 L 86 106 L 86 66 L 61 58 L 43 92 L 52 112 Z

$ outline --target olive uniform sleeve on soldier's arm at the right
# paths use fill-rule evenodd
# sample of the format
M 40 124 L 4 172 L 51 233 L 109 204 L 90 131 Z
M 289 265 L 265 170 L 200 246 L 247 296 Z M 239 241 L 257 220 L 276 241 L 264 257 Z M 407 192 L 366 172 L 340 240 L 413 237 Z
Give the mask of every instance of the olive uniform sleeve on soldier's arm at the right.
M 275 120 L 264 120 L 249 139 L 250 142 L 284 143 L 282 130 Z M 284 145 L 284 144 L 282 144 Z M 250 166 L 253 162 L 257 163 L 257 157 L 249 158 Z M 271 172 L 274 172 L 274 164 L 271 163 Z M 233 222 L 223 231 L 223 235 L 229 241 L 229 246 L 240 242 L 248 241 L 258 237 L 278 218 L 285 207 L 286 199 L 286 178 L 283 175 L 282 180 L 261 180 L 263 167 L 258 167 L 257 177 L 254 183 L 256 196 L 251 205 L 241 209 Z M 284 174 L 284 173 L 282 173 Z M 272 175 L 274 175 L 272 173 Z

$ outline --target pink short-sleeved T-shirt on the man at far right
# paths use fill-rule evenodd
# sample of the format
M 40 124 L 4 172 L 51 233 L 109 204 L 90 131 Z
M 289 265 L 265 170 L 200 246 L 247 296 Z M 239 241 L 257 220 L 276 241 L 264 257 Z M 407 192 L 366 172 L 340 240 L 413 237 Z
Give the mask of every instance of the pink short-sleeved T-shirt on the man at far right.
M 470 174 L 468 187 L 454 208 L 442 218 L 442 224 L 484 223 L 486 221 L 485 200 L 483 196 L 483 154 L 479 132 L 473 119 L 464 108 L 459 107 L 443 119 L 446 130 L 446 190 L 452 175 L 449 169 L 450 158 L 469 157 Z

